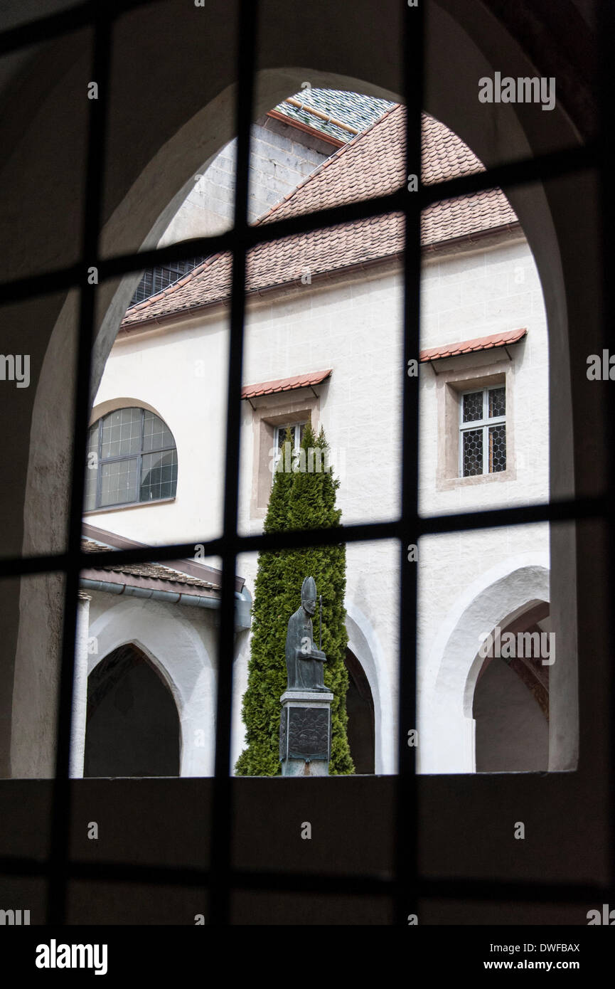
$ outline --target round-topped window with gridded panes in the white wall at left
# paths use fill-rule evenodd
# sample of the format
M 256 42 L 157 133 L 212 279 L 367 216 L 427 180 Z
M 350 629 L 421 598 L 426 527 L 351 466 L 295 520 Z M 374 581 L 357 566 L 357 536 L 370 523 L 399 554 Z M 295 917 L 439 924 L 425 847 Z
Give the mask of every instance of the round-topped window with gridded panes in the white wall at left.
M 85 510 L 174 497 L 177 448 L 160 416 L 132 406 L 108 412 L 89 431 Z

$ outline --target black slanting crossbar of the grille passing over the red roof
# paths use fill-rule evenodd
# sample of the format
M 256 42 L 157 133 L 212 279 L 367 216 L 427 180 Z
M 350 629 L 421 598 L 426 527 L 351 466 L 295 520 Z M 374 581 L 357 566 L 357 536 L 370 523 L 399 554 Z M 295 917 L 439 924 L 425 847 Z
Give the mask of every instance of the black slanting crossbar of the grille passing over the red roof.
M 243 245 L 248 250 L 258 243 L 268 243 L 282 237 L 308 233 L 311 230 L 322 229 L 327 226 L 369 220 L 371 217 L 390 213 L 403 213 L 408 209 L 408 197 L 413 197 L 411 199 L 413 207 L 426 209 L 434 203 L 483 192 L 487 189 L 525 185 L 529 182 L 559 178 L 570 172 L 595 167 L 599 160 L 599 153 L 597 142 L 593 142 L 581 147 L 552 151 L 535 158 L 525 158 L 522 161 L 496 165 L 475 175 L 463 175 L 446 182 L 421 186 L 415 193 L 409 193 L 405 188 L 401 188 L 387 196 L 360 200 L 356 203 L 330 207 L 326 210 L 316 210 L 313 213 L 290 217 L 275 223 L 256 224 L 243 228 L 235 227 L 215 236 L 181 240 L 165 247 L 132 254 L 121 254 L 111 258 L 88 259 L 82 264 L 0 283 L 0 304 L 19 302 L 34 296 L 66 291 L 74 286 L 86 284 L 88 269 L 91 265 L 98 268 L 100 283 L 131 272 L 155 268 L 168 261 L 189 260 L 197 256 L 212 257 L 223 251 L 231 251 L 237 240 L 243 240 Z

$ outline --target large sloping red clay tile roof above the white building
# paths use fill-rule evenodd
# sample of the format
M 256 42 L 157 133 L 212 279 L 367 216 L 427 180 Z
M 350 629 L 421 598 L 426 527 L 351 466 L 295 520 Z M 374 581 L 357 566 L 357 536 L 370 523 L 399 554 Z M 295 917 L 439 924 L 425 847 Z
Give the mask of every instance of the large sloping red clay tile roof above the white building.
M 257 223 L 267 224 L 395 192 L 405 181 L 404 141 L 405 111 L 395 105 L 371 128 L 327 158 Z M 425 185 L 483 170 L 482 162 L 460 137 L 423 115 Z M 489 190 L 430 206 L 422 214 L 421 243 L 427 247 L 517 223 L 503 193 Z M 257 244 L 247 256 L 246 291 L 297 283 L 307 269 L 313 279 L 354 264 L 395 257 L 402 250 L 403 221 L 399 214 Z M 128 329 L 150 319 L 190 313 L 226 301 L 230 296 L 230 276 L 229 254 L 208 258 L 181 281 L 132 306 L 122 326 Z

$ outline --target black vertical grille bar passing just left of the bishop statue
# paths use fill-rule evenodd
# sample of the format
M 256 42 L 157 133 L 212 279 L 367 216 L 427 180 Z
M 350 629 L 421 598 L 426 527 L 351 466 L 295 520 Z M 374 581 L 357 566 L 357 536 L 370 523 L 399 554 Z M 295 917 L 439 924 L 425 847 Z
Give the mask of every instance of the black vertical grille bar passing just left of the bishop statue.
M 230 342 L 228 351 L 228 394 L 226 405 L 226 450 L 224 460 L 224 516 L 222 539 L 222 585 L 218 694 L 216 705 L 216 778 L 212 820 L 210 923 L 227 924 L 232 827 L 230 788 L 230 728 L 232 704 L 232 658 L 235 610 L 235 538 L 237 534 L 239 486 L 239 436 L 241 430 L 241 372 L 245 311 L 245 269 L 250 164 L 250 125 L 254 96 L 254 71 L 258 5 L 240 0 L 237 22 L 237 165 L 235 181 L 232 286 L 230 298 Z

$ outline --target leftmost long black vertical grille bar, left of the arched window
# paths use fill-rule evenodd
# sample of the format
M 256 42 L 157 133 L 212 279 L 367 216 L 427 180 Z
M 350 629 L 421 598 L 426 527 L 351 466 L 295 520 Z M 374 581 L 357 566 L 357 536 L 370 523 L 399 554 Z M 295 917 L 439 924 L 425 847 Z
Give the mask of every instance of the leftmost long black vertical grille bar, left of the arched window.
M 92 81 L 98 84 L 98 99 L 89 100 L 89 127 L 82 217 L 81 259 L 83 272 L 98 264 L 99 231 L 102 217 L 105 167 L 107 101 L 110 78 L 111 20 L 99 0 L 93 26 Z M 88 94 L 84 86 L 83 99 Z M 64 620 L 59 671 L 56 762 L 52 793 L 50 828 L 47 923 L 64 923 L 66 901 L 66 860 L 70 837 L 69 758 L 72 722 L 73 667 L 79 588 L 79 553 L 85 482 L 85 451 L 88 434 L 92 341 L 96 286 L 85 281 L 80 289 L 79 337 L 74 395 L 74 430 L 71 486 L 68 516 L 67 552 L 69 565 L 64 587 Z

